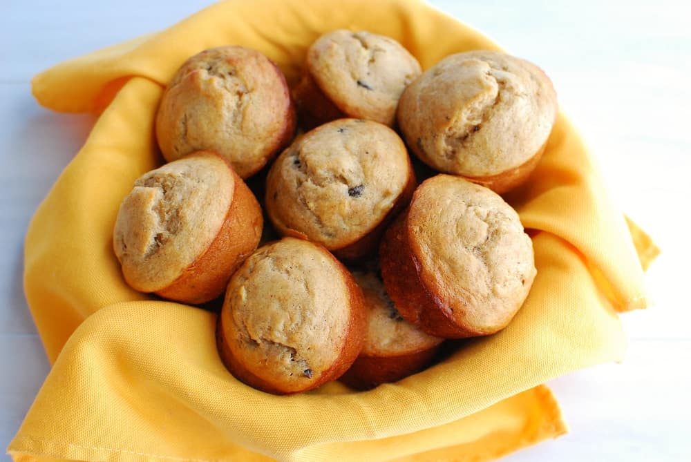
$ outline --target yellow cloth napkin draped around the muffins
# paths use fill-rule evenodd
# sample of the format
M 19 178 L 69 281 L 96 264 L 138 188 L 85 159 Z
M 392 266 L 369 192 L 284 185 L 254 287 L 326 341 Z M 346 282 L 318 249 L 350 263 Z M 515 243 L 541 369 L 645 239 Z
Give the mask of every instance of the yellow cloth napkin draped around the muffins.
M 496 48 L 417 1 L 239 0 L 35 77 L 44 106 L 102 114 L 26 238 L 26 296 L 54 365 L 8 448 L 16 461 L 484 461 L 565 432 L 540 384 L 621 360 L 617 312 L 645 305 L 634 241 L 643 264 L 656 248 L 629 231 L 563 115 L 531 183 L 509 196 L 535 230 L 524 307 L 504 331 L 399 383 L 258 392 L 223 368 L 216 315 L 129 289 L 113 223 L 133 180 L 162 162 L 153 119 L 176 68 L 241 44 L 294 83 L 310 42 L 336 28 L 394 37 L 424 68 Z

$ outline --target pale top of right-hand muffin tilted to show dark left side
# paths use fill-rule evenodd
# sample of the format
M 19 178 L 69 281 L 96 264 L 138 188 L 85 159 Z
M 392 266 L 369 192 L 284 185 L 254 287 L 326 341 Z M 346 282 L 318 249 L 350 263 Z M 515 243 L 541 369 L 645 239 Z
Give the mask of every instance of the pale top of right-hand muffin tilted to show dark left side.
M 440 306 L 479 332 L 509 323 L 537 271 L 518 213 L 500 195 L 437 175 L 415 191 L 407 226 L 419 278 Z

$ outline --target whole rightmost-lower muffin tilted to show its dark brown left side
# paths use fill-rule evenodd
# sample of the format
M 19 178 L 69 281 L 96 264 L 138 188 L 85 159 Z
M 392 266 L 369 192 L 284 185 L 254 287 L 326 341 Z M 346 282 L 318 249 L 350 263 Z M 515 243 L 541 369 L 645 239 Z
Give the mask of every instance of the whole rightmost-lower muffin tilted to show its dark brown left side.
M 537 272 L 518 213 L 498 194 L 452 175 L 418 187 L 380 253 L 386 291 L 401 315 L 445 338 L 506 327 Z

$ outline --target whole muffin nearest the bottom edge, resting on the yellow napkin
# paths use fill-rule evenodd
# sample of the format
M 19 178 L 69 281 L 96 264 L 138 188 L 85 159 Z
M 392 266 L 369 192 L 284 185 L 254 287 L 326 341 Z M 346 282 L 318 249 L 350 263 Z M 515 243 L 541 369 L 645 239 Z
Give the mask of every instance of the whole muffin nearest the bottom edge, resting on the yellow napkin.
M 233 275 L 218 318 L 218 349 L 238 380 L 274 394 L 335 380 L 365 336 L 362 291 L 312 242 L 283 238 Z

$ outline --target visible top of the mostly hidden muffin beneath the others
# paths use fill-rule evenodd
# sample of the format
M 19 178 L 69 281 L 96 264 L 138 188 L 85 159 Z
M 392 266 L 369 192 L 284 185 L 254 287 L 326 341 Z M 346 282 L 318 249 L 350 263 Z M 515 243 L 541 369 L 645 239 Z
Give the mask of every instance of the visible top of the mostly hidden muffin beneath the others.
M 377 273 L 354 271 L 367 308 L 367 336 L 361 356 L 397 356 L 430 349 L 443 338 L 430 336 L 404 320 Z

